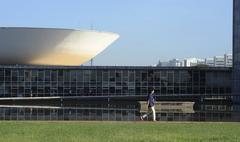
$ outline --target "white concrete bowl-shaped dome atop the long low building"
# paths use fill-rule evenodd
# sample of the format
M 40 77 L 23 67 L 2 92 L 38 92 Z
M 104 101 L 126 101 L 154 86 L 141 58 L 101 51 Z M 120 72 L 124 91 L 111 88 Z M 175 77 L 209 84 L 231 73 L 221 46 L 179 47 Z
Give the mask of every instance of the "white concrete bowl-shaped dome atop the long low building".
M 0 64 L 81 65 L 118 37 L 89 30 L 0 28 Z

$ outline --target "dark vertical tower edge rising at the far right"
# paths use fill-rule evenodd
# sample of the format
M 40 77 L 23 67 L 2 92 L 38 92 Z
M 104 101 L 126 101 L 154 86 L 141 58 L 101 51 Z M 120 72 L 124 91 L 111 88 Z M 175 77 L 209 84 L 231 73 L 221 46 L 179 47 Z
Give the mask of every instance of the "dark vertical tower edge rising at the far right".
M 240 0 L 233 0 L 233 95 L 240 95 Z M 240 97 L 234 97 L 240 102 Z

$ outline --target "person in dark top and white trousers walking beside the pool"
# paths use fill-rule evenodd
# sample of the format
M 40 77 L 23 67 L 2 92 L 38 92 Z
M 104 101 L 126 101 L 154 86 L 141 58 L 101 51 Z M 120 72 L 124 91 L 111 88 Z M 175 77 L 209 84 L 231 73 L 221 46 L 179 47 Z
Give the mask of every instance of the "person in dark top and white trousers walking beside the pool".
M 147 105 L 148 105 L 148 112 L 142 116 L 140 116 L 141 120 L 144 120 L 149 114 L 153 114 L 153 121 L 156 121 L 156 111 L 155 111 L 155 94 L 154 94 L 154 89 L 151 91 L 150 94 L 148 94 L 148 99 L 147 99 Z

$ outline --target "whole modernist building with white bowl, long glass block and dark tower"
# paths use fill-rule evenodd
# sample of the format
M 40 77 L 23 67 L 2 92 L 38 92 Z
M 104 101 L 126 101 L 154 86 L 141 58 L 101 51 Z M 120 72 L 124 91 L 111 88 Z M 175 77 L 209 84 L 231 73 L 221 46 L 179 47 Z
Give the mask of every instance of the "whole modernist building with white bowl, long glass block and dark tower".
M 232 100 L 232 94 L 240 92 L 239 8 L 239 0 L 234 0 L 233 71 L 227 67 L 82 67 L 78 65 L 119 36 L 69 29 L 0 28 L 0 97 L 141 99 L 155 88 L 159 97 Z

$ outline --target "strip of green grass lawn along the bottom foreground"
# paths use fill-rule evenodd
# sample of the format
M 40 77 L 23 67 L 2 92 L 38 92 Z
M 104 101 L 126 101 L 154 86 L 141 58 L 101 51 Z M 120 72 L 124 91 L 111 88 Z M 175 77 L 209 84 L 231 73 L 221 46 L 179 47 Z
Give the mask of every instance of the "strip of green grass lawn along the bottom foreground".
M 0 142 L 240 142 L 240 123 L 0 121 Z

